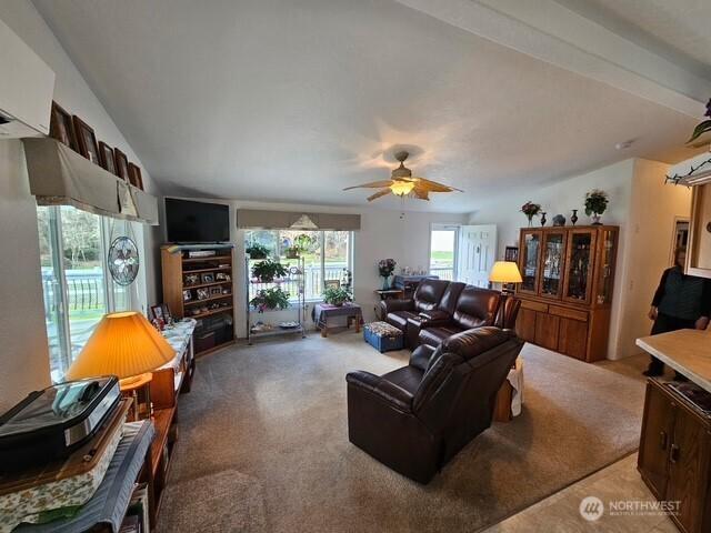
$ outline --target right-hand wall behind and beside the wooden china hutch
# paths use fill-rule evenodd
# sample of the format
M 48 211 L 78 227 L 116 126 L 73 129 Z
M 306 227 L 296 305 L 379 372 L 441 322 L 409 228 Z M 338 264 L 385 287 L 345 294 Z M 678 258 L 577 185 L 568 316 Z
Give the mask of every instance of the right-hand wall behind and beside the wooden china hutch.
M 511 191 L 508 200 L 471 213 L 470 223 L 497 224 L 501 257 L 505 245 L 518 245 L 519 229 L 528 225 L 519 212 L 527 201 L 541 204 L 547 225 L 558 213 L 570 224 L 572 209 L 578 209 L 578 224 L 589 224 L 583 209 L 585 192 L 607 191 L 610 204 L 602 221 L 620 227 L 608 356 L 624 358 L 639 353 L 634 340 L 649 334 L 651 324 L 645 315 L 669 260 L 673 220 L 689 214 L 690 192 L 664 185 L 667 172 L 663 163 L 629 159 L 549 187 Z

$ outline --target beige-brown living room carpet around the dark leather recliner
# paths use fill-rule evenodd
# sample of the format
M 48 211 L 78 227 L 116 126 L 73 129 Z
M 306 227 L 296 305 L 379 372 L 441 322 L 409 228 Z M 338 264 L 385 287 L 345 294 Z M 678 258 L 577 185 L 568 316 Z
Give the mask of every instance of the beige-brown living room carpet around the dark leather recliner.
M 348 441 L 346 373 L 382 374 L 360 334 L 236 346 L 198 361 L 161 532 L 477 531 L 633 452 L 643 358 L 590 365 L 527 344 L 524 406 L 427 486 Z

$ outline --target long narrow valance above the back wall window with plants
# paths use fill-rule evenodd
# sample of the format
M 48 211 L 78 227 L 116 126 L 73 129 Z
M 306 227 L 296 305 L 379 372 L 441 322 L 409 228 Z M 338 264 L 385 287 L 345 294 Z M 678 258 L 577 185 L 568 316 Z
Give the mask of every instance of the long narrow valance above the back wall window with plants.
M 237 227 L 241 230 L 360 230 L 360 214 L 302 213 L 238 209 Z

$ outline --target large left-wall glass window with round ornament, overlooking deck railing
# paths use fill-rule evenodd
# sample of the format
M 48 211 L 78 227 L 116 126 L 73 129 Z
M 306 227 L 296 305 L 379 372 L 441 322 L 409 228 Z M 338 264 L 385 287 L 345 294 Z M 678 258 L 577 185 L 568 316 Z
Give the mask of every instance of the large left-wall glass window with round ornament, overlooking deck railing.
M 67 205 L 37 213 L 50 370 L 59 382 L 104 313 L 141 309 L 138 283 L 114 283 L 106 265 L 113 239 L 128 235 L 138 244 L 141 228 Z

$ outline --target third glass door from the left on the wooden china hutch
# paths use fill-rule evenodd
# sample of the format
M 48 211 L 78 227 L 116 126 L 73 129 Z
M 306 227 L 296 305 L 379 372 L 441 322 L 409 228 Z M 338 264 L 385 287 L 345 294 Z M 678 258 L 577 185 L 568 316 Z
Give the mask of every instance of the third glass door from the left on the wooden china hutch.
M 563 300 L 590 303 L 594 249 L 595 230 L 569 231 Z

